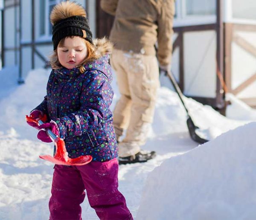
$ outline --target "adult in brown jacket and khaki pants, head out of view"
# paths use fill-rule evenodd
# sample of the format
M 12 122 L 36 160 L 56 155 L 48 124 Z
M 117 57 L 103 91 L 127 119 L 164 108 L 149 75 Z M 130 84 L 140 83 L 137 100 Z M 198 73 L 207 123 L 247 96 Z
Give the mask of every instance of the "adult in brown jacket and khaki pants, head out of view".
M 171 69 L 175 0 L 101 0 L 101 8 L 115 16 L 110 62 L 121 94 L 113 111 L 119 164 L 146 162 L 156 155 L 141 146 L 153 122 L 159 67 Z

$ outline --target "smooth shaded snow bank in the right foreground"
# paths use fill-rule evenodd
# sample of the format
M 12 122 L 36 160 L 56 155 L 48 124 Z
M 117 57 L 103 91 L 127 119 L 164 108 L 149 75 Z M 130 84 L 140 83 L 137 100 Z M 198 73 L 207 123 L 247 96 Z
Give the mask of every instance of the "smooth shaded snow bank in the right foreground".
M 256 219 L 255 131 L 252 122 L 164 161 L 148 175 L 137 219 Z

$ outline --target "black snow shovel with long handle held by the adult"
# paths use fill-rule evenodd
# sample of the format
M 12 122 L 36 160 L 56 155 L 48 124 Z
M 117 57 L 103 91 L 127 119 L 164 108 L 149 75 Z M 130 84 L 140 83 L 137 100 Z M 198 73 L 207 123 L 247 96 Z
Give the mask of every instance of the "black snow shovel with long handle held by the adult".
M 190 115 L 189 115 L 189 111 L 188 111 L 188 109 L 187 109 L 187 107 L 186 107 L 186 105 L 185 105 L 185 103 L 184 103 L 184 101 L 183 101 L 183 98 L 182 98 L 183 94 L 182 94 L 182 92 L 181 92 L 181 90 L 180 90 L 180 87 L 178 86 L 178 84 L 177 84 L 177 82 L 176 82 L 176 80 L 175 80 L 175 78 L 174 78 L 174 75 L 172 74 L 171 71 L 166 71 L 165 73 L 166 73 L 166 75 L 168 76 L 168 78 L 171 80 L 172 85 L 173 85 L 173 87 L 175 88 L 175 90 L 176 90 L 176 92 L 177 92 L 177 94 L 178 94 L 178 96 L 179 96 L 179 98 L 180 98 L 180 101 L 182 102 L 182 104 L 183 104 L 183 106 L 184 106 L 184 108 L 185 108 L 185 110 L 186 110 L 187 117 L 188 117 L 186 123 L 187 123 L 188 129 L 189 129 L 189 135 L 190 135 L 190 137 L 191 137 L 195 142 L 198 142 L 198 143 L 200 143 L 200 144 L 203 144 L 203 143 L 207 142 L 208 140 L 206 140 L 206 139 L 200 137 L 200 136 L 196 133 L 196 130 L 199 130 L 199 127 L 195 126 L 194 122 L 192 121 L 192 119 L 191 119 L 191 117 L 190 117 Z

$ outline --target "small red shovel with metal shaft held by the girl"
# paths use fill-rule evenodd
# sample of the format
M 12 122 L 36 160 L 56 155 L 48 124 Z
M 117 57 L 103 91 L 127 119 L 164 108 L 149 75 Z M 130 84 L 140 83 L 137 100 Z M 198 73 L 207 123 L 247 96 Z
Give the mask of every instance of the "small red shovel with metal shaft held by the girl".
M 38 125 L 44 124 L 42 121 L 44 120 L 43 118 L 38 118 L 38 119 L 32 119 L 29 116 L 26 116 L 26 121 L 27 122 L 35 122 Z M 56 153 L 52 157 L 50 155 L 42 155 L 39 156 L 41 159 L 48 160 L 49 162 L 52 162 L 54 164 L 58 165 L 76 165 L 76 166 L 81 166 L 85 165 L 93 159 L 92 156 L 90 155 L 85 155 L 85 156 L 79 156 L 77 158 L 69 158 L 68 153 L 65 147 L 65 142 L 63 139 L 59 138 L 56 136 L 54 133 L 49 128 L 44 129 L 47 133 L 47 135 L 52 139 L 52 141 L 55 144 L 56 147 Z

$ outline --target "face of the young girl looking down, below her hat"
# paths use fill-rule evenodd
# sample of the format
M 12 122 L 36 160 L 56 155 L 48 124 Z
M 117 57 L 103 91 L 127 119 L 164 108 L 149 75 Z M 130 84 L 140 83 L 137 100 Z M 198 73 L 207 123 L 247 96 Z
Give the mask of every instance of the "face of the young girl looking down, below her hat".
M 87 56 L 87 46 L 84 39 L 79 36 L 65 38 L 63 46 L 58 45 L 57 54 L 61 66 L 73 69 L 84 62 Z

